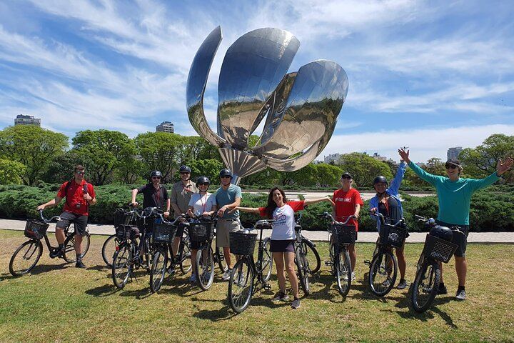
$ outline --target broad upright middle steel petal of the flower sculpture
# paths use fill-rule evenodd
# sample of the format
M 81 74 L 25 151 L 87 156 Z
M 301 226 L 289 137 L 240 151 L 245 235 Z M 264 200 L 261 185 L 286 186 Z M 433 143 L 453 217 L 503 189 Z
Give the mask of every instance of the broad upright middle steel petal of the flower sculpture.
M 228 144 L 248 147 L 299 46 L 290 32 L 265 28 L 244 34 L 228 49 L 218 83 L 218 135 Z

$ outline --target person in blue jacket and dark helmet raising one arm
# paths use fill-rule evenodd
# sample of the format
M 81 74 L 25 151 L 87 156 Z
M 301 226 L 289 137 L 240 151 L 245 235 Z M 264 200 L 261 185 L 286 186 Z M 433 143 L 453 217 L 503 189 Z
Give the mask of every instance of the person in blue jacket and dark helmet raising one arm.
M 406 166 L 407 164 L 405 164 L 404 161 L 400 162 L 400 166 L 398 166 L 398 171 L 390 187 L 388 187 L 388 180 L 383 176 L 378 176 L 373 180 L 373 188 L 377 193 L 375 197 L 370 199 L 370 209 L 373 212 L 382 214 L 385 218 L 385 222 L 388 224 L 395 224 L 403 218 L 403 208 L 401 206 L 398 189 L 400 189 L 403 175 L 405 175 Z M 371 218 L 375 219 L 377 231 L 380 232 L 381 221 L 376 216 L 371 216 Z M 404 289 L 408 286 L 405 280 L 407 262 L 405 262 L 405 254 L 403 253 L 404 248 L 405 243 L 403 247 L 395 249 L 396 257 L 398 258 L 398 269 L 400 269 L 400 283 L 398 284 L 398 289 Z

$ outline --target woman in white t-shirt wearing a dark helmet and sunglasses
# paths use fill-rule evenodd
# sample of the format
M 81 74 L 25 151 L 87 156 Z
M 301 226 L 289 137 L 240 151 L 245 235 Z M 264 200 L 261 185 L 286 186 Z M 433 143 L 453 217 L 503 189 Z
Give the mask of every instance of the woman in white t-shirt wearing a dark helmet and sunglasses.
M 208 177 L 198 177 L 196 180 L 196 188 L 198 188 L 199 192 L 191 195 L 187 212 L 189 217 L 193 217 L 195 215 L 208 217 L 212 216 L 216 212 L 216 197 L 207 192 L 209 184 L 211 184 L 211 181 Z M 198 252 L 199 248 L 200 242 L 191 242 L 191 261 L 196 261 L 196 252 Z M 196 282 L 196 264 L 191 263 L 191 266 L 193 267 L 193 271 L 189 281 Z

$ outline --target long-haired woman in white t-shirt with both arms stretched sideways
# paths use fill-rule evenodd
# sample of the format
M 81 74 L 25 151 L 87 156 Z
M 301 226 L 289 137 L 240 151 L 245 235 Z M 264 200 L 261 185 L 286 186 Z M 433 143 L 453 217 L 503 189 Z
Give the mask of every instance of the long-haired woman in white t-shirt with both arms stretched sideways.
M 298 299 L 298 277 L 295 271 L 295 252 L 294 240 L 295 234 L 295 219 L 294 212 L 301 211 L 303 207 L 308 204 L 315 204 L 316 202 L 331 202 L 330 197 L 323 197 L 318 199 L 309 199 L 297 202 L 288 202 L 286 194 L 283 190 L 275 187 L 271 189 L 268 194 L 268 205 L 266 207 L 250 208 L 250 207 L 236 207 L 243 212 L 251 212 L 260 214 L 261 217 L 275 219 L 273 222 L 273 232 L 271 232 L 271 252 L 273 253 L 273 260 L 275 261 L 278 277 L 278 287 L 280 292 L 276 294 L 273 301 L 287 301 L 289 299 L 286 293 L 286 271 L 291 282 L 291 289 L 293 290 L 293 302 L 291 307 L 297 309 L 300 307 L 300 299 Z

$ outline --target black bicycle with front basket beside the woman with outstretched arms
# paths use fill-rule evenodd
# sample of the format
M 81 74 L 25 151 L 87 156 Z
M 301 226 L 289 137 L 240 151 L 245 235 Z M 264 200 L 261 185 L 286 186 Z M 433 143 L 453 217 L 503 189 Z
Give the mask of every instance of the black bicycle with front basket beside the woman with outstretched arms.
M 231 270 L 228 280 L 228 303 L 236 313 L 243 312 L 251 302 L 251 297 L 259 289 L 271 289 L 268 281 L 271 277 L 273 259 L 269 251 L 270 239 L 263 240 L 263 229 L 271 227 L 272 219 L 261 219 L 253 229 L 244 229 L 229 234 L 230 247 L 233 254 L 240 259 Z M 257 261 L 253 259 L 253 251 L 257 234 L 251 234 L 254 229 L 260 229 Z

